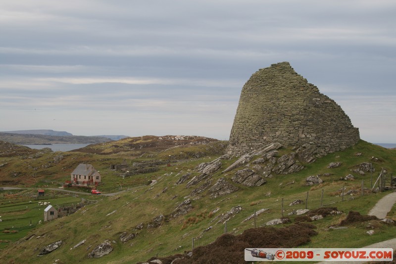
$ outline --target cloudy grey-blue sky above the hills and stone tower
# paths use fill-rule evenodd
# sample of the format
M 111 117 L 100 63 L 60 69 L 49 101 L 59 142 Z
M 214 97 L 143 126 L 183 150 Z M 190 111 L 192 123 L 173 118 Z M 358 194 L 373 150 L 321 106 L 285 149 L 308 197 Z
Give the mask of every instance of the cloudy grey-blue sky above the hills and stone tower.
M 251 74 L 289 61 L 396 143 L 394 0 L 0 0 L 0 131 L 228 140 Z

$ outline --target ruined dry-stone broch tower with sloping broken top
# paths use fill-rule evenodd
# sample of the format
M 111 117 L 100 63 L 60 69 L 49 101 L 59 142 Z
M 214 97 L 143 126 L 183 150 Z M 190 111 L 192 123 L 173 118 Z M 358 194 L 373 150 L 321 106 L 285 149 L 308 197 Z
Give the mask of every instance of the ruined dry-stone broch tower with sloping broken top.
M 319 156 L 355 145 L 353 127 L 341 106 L 319 93 L 289 62 L 256 71 L 244 85 L 227 154 L 241 156 L 271 142 L 309 144 Z

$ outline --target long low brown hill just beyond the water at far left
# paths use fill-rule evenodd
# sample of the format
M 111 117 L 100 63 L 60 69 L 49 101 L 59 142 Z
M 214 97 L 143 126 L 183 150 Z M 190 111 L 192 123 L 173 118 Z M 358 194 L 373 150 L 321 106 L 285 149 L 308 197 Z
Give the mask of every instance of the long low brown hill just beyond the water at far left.
M 86 137 L 86 136 L 48 136 L 39 134 L 16 134 L 0 132 L 0 140 L 18 144 L 18 145 L 35 145 L 35 144 L 97 144 L 112 141 L 103 137 Z

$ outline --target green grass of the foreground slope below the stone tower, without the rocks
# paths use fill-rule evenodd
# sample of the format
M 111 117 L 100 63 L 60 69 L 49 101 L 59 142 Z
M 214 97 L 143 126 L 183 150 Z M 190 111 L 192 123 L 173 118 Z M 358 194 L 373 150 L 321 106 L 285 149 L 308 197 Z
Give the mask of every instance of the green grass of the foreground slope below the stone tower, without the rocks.
M 288 152 L 289 150 L 282 150 Z M 164 152 L 162 157 L 175 156 L 180 154 L 180 150 L 172 149 L 169 154 Z M 362 153 L 362 156 L 355 156 L 356 152 Z M 80 154 L 82 155 L 82 154 Z M 86 157 L 86 156 L 78 156 Z M 232 233 L 240 233 L 243 230 L 253 227 L 253 221 L 241 223 L 254 210 L 262 208 L 270 208 L 270 213 L 263 214 L 257 217 L 257 224 L 263 224 L 267 220 L 275 218 L 279 215 L 280 201 L 285 200 L 285 205 L 294 199 L 304 199 L 306 191 L 310 191 L 310 196 L 320 197 L 321 189 L 324 189 L 326 194 L 336 193 L 337 190 L 344 185 L 347 190 L 360 189 L 361 180 L 364 179 L 366 183 L 370 181 L 370 175 L 356 176 L 357 180 L 353 182 L 339 181 L 339 178 L 350 173 L 353 165 L 361 162 L 370 162 L 371 157 L 379 158 L 383 161 L 373 162 L 376 169 L 374 176 L 378 176 L 378 171 L 381 167 L 385 167 L 392 172 L 396 169 L 396 152 L 372 145 L 370 143 L 360 141 L 355 147 L 349 148 L 344 152 L 330 154 L 324 158 L 318 159 L 311 164 L 305 164 L 306 168 L 298 173 L 292 175 L 276 175 L 274 178 L 268 179 L 267 184 L 247 188 L 238 186 L 240 190 L 236 193 L 210 199 L 208 195 L 201 199 L 192 202 L 194 210 L 190 211 L 184 216 L 180 216 L 169 222 L 164 222 L 161 227 L 154 229 L 144 228 L 139 232 L 139 235 L 125 244 L 119 240 L 119 235 L 123 231 L 134 231 L 134 227 L 141 222 L 148 222 L 159 214 L 169 214 L 175 206 L 185 200 L 185 196 L 189 195 L 191 189 L 186 189 L 185 184 L 174 186 L 174 183 L 179 177 L 188 170 L 194 169 L 200 162 L 210 161 L 216 157 L 206 157 L 199 159 L 192 159 L 187 162 L 175 163 L 172 166 L 163 166 L 160 171 L 151 173 L 149 175 L 137 175 L 137 178 L 157 178 L 158 182 L 153 186 L 143 186 L 132 191 L 125 192 L 117 197 L 101 197 L 102 201 L 96 205 L 87 206 L 84 210 L 45 223 L 41 227 L 37 227 L 29 234 L 43 235 L 38 239 L 34 238 L 28 241 L 23 241 L 14 246 L 10 246 L 0 253 L 0 257 L 6 261 L 14 260 L 16 263 L 43 263 L 53 262 L 57 259 L 57 263 L 72 263 L 72 262 L 92 262 L 87 259 L 87 254 L 99 243 L 106 239 L 114 240 L 114 250 L 108 256 L 95 260 L 96 263 L 134 263 L 138 261 L 145 261 L 151 256 L 158 253 L 159 256 L 166 256 L 175 253 L 182 253 L 185 250 L 191 249 L 191 241 L 193 237 L 199 237 L 202 231 L 209 226 L 213 226 L 211 230 L 203 233 L 202 238 L 196 240 L 196 246 L 203 245 L 213 241 L 218 235 L 224 232 L 224 225 L 217 221 L 212 221 L 214 217 L 230 210 L 236 205 L 243 208 L 239 214 L 232 218 L 227 223 L 228 231 Z M 91 155 L 89 158 L 95 158 Z M 103 158 L 103 157 L 101 157 Z M 341 161 L 343 165 L 339 168 L 328 169 L 327 165 L 330 162 Z M 100 163 L 99 160 L 97 160 Z M 103 163 L 108 160 L 102 161 Z M 230 165 L 233 160 L 223 160 L 222 169 Z M 104 166 L 104 165 L 103 165 Z M 107 166 L 107 164 L 106 164 Z M 220 169 L 220 170 L 222 170 Z M 332 175 L 322 177 L 325 183 L 319 187 L 302 186 L 304 179 L 309 175 L 316 175 L 329 172 Z M 110 172 L 109 172 L 110 173 Z M 214 182 L 220 177 L 230 178 L 232 172 L 226 175 L 217 172 L 214 174 Z M 124 186 L 132 183 L 135 176 L 123 179 Z M 119 178 L 119 177 L 118 177 Z M 110 178 L 110 176 L 108 177 Z M 127 181 L 131 182 L 127 182 Z M 295 184 L 286 185 L 288 182 L 295 181 Z M 214 183 L 213 182 L 213 183 Z M 280 183 L 283 183 L 280 185 Z M 108 185 L 108 182 L 102 186 Z M 199 186 L 199 184 L 198 184 Z M 152 188 L 151 188 L 152 187 Z M 167 187 L 167 191 L 162 193 L 162 190 Z M 108 189 L 110 190 L 110 188 Z M 265 196 L 267 193 L 270 196 Z M 157 198 L 154 197 L 160 194 Z M 354 196 L 354 200 L 345 199 L 345 202 L 338 203 L 332 206 L 338 207 L 345 212 L 349 210 L 359 211 L 360 213 L 367 213 L 368 210 L 374 206 L 376 201 L 383 197 L 386 193 L 373 194 L 370 196 Z M 177 196 L 174 198 L 174 196 Z M 340 197 L 328 197 L 325 202 L 331 203 L 333 200 L 340 201 Z M 173 199 L 172 199 L 173 198 Z M 333 200 L 332 200 L 333 199 Z M 317 201 L 317 200 L 316 200 Z M 312 208 L 318 205 L 310 205 Z M 210 211 L 219 209 L 213 216 Z M 286 206 L 288 211 L 291 209 Z M 288 212 L 286 211 L 286 212 Z M 276 214 L 278 212 L 278 214 Z M 210 217 L 211 216 L 211 217 Z M 272 218 L 271 218 L 272 217 Z M 293 219 L 294 217 L 292 217 Z M 315 222 L 318 226 L 319 235 L 312 239 L 312 242 L 306 247 L 360 247 L 368 245 L 383 239 L 394 237 L 396 234 L 395 227 L 382 226 L 378 232 L 369 237 L 365 234 L 365 227 L 350 227 L 347 230 L 328 230 L 328 226 L 338 223 L 344 215 L 328 217 L 323 220 Z M 187 223 L 188 219 L 194 221 Z M 187 224 L 186 224 L 187 223 Z M 61 230 L 61 232 L 59 232 Z M 351 239 L 352 238 L 352 239 Z M 52 252 L 51 254 L 37 258 L 38 252 L 47 246 L 49 243 L 62 239 L 64 244 Z M 84 245 L 70 250 L 78 242 L 87 239 Z M 304 247 L 305 247 L 304 246 Z M 88 248 L 88 249 L 87 249 Z

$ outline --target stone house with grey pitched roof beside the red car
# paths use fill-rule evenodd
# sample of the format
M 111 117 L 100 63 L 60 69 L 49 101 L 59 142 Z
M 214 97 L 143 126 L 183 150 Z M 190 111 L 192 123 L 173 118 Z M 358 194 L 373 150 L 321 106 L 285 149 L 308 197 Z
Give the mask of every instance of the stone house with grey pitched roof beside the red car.
M 70 181 L 81 186 L 97 185 L 101 181 L 101 176 L 93 165 L 80 163 L 71 173 Z

